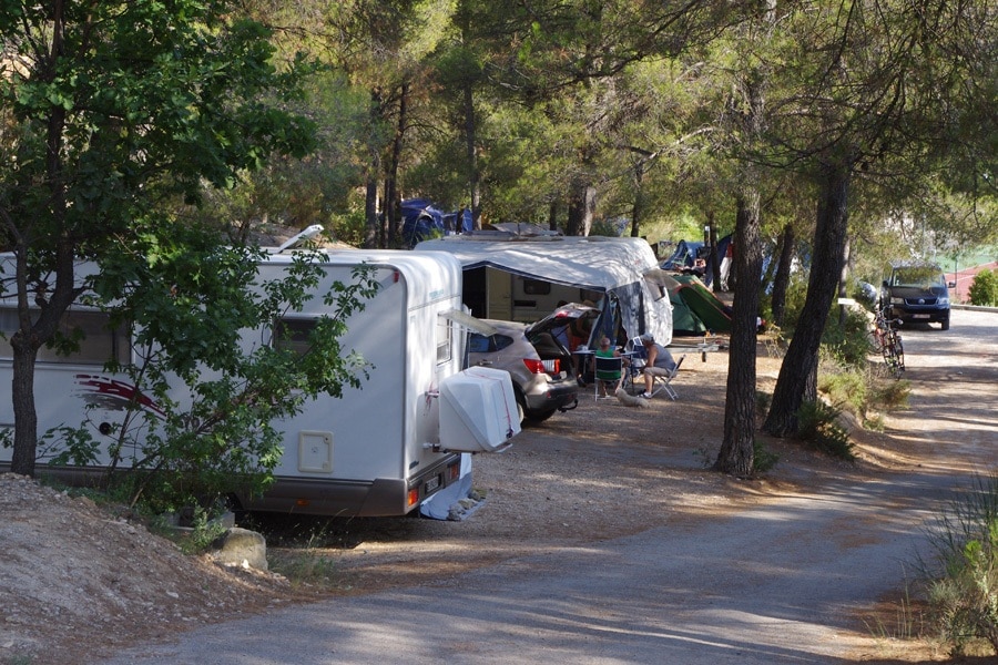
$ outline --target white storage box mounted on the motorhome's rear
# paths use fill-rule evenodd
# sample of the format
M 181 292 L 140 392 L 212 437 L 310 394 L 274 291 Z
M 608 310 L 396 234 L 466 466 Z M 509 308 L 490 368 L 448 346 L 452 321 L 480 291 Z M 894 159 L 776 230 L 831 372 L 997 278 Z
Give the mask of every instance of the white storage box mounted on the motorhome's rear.
M 509 446 L 519 432 L 520 417 L 509 372 L 472 367 L 440 382 L 444 450 L 496 452 Z

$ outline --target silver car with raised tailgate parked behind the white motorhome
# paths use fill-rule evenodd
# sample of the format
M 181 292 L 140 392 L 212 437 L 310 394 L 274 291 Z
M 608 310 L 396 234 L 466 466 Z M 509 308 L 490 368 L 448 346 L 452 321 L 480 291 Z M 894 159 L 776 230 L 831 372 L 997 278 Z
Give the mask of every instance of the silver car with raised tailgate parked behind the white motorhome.
M 509 372 L 521 422 L 542 422 L 578 406 L 571 354 L 547 329 L 548 319 L 537 324 L 476 320 L 468 365 Z

